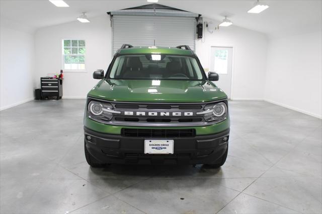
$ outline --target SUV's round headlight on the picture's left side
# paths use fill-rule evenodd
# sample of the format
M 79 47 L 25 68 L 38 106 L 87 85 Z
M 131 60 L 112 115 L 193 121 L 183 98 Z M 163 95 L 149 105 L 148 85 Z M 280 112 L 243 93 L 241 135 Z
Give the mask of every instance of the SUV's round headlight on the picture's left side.
M 107 102 L 92 100 L 88 105 L 89 117 L 98 121 L 110 121 L 113 118 L 113 106 Z

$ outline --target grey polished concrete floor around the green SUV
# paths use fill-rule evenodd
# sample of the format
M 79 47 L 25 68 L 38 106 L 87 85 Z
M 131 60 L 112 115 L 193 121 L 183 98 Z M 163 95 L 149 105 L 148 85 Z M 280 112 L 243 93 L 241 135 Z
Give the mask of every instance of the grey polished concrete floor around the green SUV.
M 85 161 L 85 100 L 1 112 L 1 213 L 321 213 L 321 120 L 264 101 L 230 101 L 219 169 Z

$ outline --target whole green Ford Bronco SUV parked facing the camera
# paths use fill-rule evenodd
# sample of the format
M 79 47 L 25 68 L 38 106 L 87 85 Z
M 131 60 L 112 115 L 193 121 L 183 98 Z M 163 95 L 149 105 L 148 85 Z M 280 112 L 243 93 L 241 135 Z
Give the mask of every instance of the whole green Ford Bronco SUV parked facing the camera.
M 206 76 L 187 45 L 124 44 L 88 93 L 85 156 L 106 164 L 224 164 L 228 152 L 227 95 Z

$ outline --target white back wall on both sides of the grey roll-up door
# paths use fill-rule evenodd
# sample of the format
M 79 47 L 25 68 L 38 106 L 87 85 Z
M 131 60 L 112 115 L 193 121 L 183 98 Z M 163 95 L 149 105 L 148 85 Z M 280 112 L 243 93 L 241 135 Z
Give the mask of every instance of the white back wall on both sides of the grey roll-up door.
M 85 97 L 97 80 L 96 69 L 106 70 L 111 60 L 111 28 L 107 15 L 91 19 L 91 23 L 72 22 L 42 28 L 36 32 L 37 81 L 61 69 L 61 40 L 85 39 L 86 73 L 65 73 L 64 98 Z M 209 46 L 233 44 L 235 48 L 233 98 L 263 99 L 267 40 L 265 35 L 238 27 L 222 28 L 206 33 L 206 41 L 197 41 L 197 55 L 209 67 Z M 48 52 L 50 50 L 50 52 Z

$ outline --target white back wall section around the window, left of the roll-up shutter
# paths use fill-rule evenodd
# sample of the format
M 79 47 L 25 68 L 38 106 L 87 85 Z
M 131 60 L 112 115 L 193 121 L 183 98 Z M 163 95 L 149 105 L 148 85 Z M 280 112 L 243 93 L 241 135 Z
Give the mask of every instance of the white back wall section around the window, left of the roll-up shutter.
M 85 98 L 98 82 L 93 79 L 97 69 L 106 71 L 111 61 L 111 28 L 107 15 L 91 18 L 90 23 L 78 21 L 41 28 L 36 32 L 36 81 L 40 87 L 41 76 L 52 76 L 62 69 L 61 41 L 86 40 L 86 72 L 65 72 L 64 98 Z

